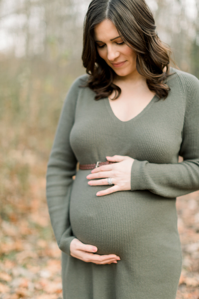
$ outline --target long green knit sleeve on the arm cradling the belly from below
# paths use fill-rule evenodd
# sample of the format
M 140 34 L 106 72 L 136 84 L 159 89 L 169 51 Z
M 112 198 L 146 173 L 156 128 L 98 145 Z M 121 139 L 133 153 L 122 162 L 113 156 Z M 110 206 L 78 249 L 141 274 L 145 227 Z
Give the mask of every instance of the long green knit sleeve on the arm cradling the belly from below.
M 46 194 L 52 227 L 59 248 L 69 255 L 70 242 L 75 238 L 70 227 L 69 203 L 72 176 L 77 164 L 69 136 L 74 123 L 79 84 L 77 79 L 64 102 L 47 167 Z

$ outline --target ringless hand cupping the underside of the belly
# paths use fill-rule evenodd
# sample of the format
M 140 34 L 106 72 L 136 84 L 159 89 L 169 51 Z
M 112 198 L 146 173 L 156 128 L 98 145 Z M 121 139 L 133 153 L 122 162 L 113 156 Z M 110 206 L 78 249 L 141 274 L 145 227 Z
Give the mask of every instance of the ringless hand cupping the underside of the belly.
M 70 242 L 70 254 L 72 257 L 76 257 L 79 260 L 83 260 L 86 263 L 95 263 L 98 265 L 105 265 L 111 263 L 117 263 L 120 260 L 116 254 L 99 255 L 94 254 L 98 248 L 93 245 L 87 245 L 82 243 L 78 239 L 73 239 Z

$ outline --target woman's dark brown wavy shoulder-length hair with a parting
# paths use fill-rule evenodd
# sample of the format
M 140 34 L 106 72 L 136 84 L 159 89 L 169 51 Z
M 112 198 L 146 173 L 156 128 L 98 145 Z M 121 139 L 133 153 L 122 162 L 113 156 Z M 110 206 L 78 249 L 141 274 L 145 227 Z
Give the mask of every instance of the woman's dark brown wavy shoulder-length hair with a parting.
M 95 100 L 108 97 L 115 91 L 114 99 L 121 89 L 113 83 L 115 72 L 99 56 L 94 28 L 110 20 L 123 41 L 137 54 L 136 68 L 146 78 L 149 89 L 159 98 L 166 98 L 169 86 L 169 56 L 171 51 L 164 46 L 155 32 L 155 21 L 144 0 L 92 0 L 84 19 L 82 60 L 89 79 L 88 87 L 95 91 Z

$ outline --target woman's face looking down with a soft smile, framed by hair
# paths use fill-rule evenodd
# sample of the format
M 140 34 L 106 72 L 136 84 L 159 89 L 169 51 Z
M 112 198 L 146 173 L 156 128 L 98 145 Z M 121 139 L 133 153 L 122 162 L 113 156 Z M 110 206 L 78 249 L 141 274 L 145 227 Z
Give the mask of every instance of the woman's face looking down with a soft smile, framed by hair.
M 121 77 L 138 75 L 135 52 L 124 43 L 110 20 L 104 20 L 95 29 L 98 54 Z

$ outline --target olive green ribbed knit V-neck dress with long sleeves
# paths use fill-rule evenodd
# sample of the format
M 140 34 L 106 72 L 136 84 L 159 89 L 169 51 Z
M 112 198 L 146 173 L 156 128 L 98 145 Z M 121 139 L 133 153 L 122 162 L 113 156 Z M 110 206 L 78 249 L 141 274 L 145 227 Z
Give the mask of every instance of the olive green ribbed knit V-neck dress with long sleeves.
M 166 100 L 153 97 L 126 122 L 108 98 L 95 101 L 92 90 L 79 87 L 87 75 L 67 95 L 47 170 L 64 299 L 175 299 L 181 273 L 175 198 L 199 189 L 199 81 L 172 71 Z M 135 159 L 131 190 L 98 197 L 107 185 L 89 186 L 90 170 L 76 173 L 76 163 L 113 155 Z M 96 265 L 71 257 L 74 237 L 121 260 Z

